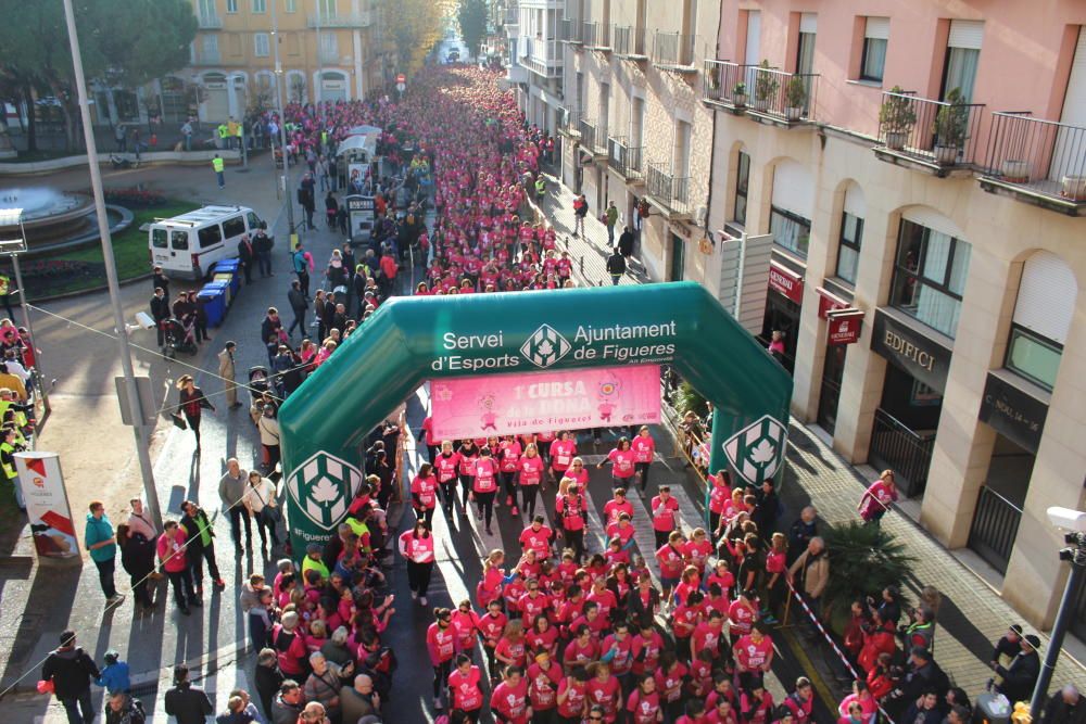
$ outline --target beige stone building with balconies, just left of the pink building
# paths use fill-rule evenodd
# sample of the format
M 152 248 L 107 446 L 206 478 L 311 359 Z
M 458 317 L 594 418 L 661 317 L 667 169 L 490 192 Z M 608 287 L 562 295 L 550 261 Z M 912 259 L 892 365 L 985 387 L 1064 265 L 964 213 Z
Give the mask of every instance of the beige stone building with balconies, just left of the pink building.
M 523 4 L 523 0 L 522 3 Z M 712 111 L 700 102 L 719 5 L 698 0 L 567 0 L 561 102 L 564 182 L 593 214 L 611 202 L 621 225 L 639 200 L 640 258 L 656 279 L 699 278 L 691 256 L 708 209 Z

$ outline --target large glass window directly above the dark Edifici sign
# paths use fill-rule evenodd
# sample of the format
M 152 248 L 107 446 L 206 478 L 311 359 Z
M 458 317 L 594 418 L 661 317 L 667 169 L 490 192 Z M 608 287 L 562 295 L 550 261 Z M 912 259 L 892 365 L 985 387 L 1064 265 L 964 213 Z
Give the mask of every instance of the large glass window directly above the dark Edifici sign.
M 960 239 L 902 219 L 891 305 L 954 338 L 971 251 Z

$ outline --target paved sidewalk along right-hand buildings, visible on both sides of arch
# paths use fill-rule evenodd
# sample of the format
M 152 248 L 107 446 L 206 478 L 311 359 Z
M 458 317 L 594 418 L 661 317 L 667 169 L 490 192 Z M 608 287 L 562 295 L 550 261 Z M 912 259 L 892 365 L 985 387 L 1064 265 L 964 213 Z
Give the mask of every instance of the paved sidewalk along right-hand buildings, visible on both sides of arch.
M 548 190 L 543 205 L 547 220 L 554 225 L 559 240 L 568 238 L 570 255 L 574 263 L 583 259 L 580 275 L 585 283 L 608 283 L 604 267 L 608 255 L 607 228 L 597 218 L 585 220 L 588 239 L 572 238 L 573 193 L 548 176 Z M 642 265 L 640 274 L 627 271 L 620 283 L 645 283 Z M 788 462 L 781 491 L 785 506 L 783 525 L 798 517 L 799 510 L 812 504 L 823 523 L 842 523 L 856 520 L 856 504 L 870 483 L 859 470 L 842 459 L 816 432 L 797 420 L 788 430 Z M 797 483 L 797 484 L 793 484 Z M 883 518 L 882 525 L 906 546 L 915 558 L 913 575 L 902 592 L 911 604 L 919 600 L 924 586 L 935 586 L 943 595 L 936 622 L 935 655 L 937 663 L 957 686 L 964 688 L 971 699 L 981 694 L 985 682 L 992 677 L 988 666 L 992 648 L 1007 632 L 1007 627 L 1021 622 L 1014 611 L 976 573 L 967 568 L 949 550 L 927 534 L 900 510 L 892 510 Z M 1052 551 L 1056 555 L 1056 550 Z M 832 573 L 831 573 L 832 574 Z M 1030 627 L 1026 627 L 1030 630 Z M 1048 637 L 1040 650 L 1041 660 L 1047 652 Z M 1073 683 L 1086 690 L 1086 668 L 1071 658 L 1066 650 L 1061 655 L 1052 678 L 1050 691 Z

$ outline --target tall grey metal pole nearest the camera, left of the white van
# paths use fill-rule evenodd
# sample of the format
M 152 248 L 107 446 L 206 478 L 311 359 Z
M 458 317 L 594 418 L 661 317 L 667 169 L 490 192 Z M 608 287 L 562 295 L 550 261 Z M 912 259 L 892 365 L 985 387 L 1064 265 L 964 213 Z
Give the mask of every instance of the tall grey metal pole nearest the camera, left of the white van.
M 274 4 L 274 3 L 273 3 Z M 72 64 L 75 68 L 75 87 L 79 93 L 79 116 L 83 120 L 83 136 L 87 143 L 87 165 L 90 168 L 90 188 L 94 194 L 94 213 L 98 217 L 98 232 L 102 238 L 102 257 L 105 262 L 105 281 L 110 289 L 110 303 L 113 307 L 113 323 L 117 329 L 117 345 L 121 352 L 121 367 L 125 374 L 125 388 L 128 391 L 128 408 L 136 432 L 136 452 L 139 454 L 140 472 L 143 474 L 143 494 L 147 496 L 147 508 L 151 520 L 159 529 L 162 528 L 162 510 L 159 508 L 159 492 L 154 486 L 154 470 L 151 467 L 148 431 L 143 425 L 143 411 L 140 409 L 139 391 L 136 386 L 136 373 L 132 370 L 131 351 L 128 347 L 128 326 L 125 323 L 125 310 L 121 306 L 121 289 L 117 284 L 117 265 L 113 258 L 113 239 L 110 237 L 110 223 L 105 216 L 105 196 L 102 194 L 102 174 L 98 168 L 98 147 L 94 141 L 94 127 L 90 124 L 90 105 L 87 103 L 87 78 L 83 72 L 83 55 L 79 52 L 79 36 L 75 28 L 75 12 L 72 0 L 64 0 L 64 18 L 67 21 L 68 43 L 72 46 Z

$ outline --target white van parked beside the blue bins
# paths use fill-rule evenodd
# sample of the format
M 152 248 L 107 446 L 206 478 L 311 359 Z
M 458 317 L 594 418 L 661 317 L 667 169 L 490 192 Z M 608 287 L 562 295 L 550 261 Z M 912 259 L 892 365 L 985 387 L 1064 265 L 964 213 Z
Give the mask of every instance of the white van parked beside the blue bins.
M 203 279 L 222 259 L 238 256 L 242 234 L 263 226 L 245 206 L 204 206 L 168 219 L 156 219 L 148 238 L 151 264 L 178 279 Z

